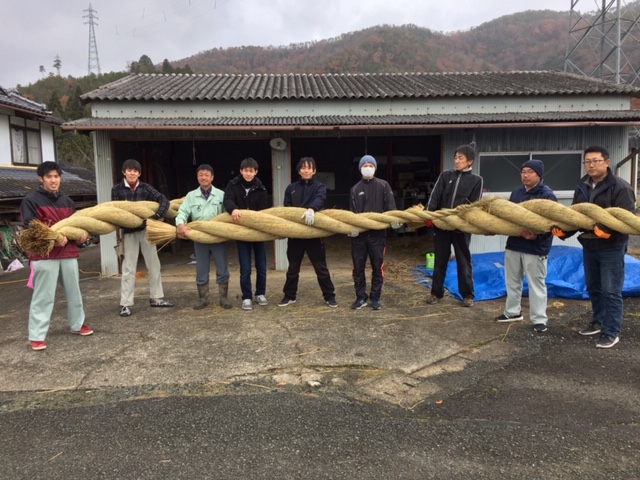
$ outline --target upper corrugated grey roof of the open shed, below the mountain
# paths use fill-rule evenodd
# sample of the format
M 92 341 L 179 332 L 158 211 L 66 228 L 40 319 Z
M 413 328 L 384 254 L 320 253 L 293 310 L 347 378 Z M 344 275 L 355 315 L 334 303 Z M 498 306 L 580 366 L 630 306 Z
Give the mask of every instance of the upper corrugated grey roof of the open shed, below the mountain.
M 529 95 L 640 97 L 640 88 L 554 71 L 363 74 L 135 74 L 84 101 L 375 99 Z

